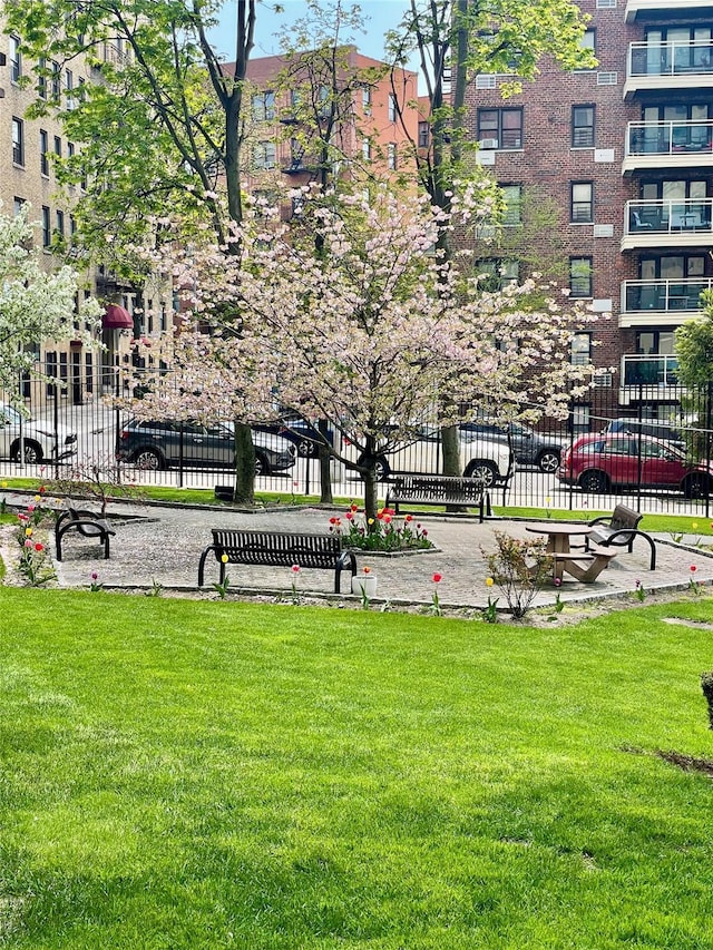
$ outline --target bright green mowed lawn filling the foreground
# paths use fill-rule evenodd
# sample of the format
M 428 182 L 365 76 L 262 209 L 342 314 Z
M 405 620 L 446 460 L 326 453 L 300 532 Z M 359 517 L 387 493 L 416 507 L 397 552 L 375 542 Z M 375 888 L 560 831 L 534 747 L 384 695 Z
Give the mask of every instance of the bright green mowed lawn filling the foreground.
M 711 600 L 2 598 L 0 946 L 713 947 Z

